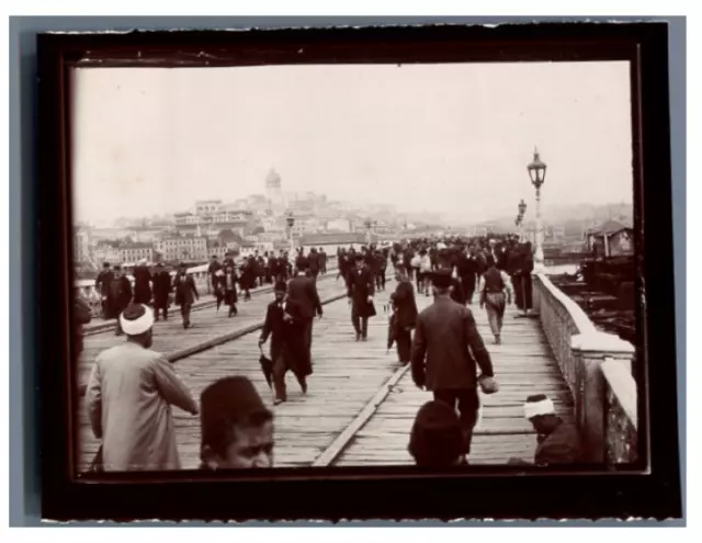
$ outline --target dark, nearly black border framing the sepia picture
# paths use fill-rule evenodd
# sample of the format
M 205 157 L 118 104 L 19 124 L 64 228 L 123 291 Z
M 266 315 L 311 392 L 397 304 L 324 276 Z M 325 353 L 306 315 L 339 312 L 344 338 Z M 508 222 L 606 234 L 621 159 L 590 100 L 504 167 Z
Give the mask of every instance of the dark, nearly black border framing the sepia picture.
M 131 32 L 38 36 L 43 517 L 597 519 L 681 514 L 666 23 Z M 69 70 L 298 64 L 631 63 L 637 460 L 576 468 L 280 468 L 76 475 Z M 646 256 L 655 254 L 655 258 Z M 65 361 L 65 362 L 58 362 Z M 519 476 L 516 476 L 519 474 Z M 223 495 L 227 499 L 222 499 Z M 536 497 L 536 499 L 534 499 Z

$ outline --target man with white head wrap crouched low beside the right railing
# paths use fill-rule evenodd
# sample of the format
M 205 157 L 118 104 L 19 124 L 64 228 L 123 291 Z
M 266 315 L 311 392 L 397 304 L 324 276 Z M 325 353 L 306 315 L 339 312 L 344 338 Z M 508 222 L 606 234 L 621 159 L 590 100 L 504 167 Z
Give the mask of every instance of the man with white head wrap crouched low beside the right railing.
M 536 394 L 526 398 L 524 418 L 537 433 L 534 462 L 510 459 L 509 464 L 547 466 L 582 461 L 582 443 L 577 428 L 556 415 L 553 400 L 546 395 Z

